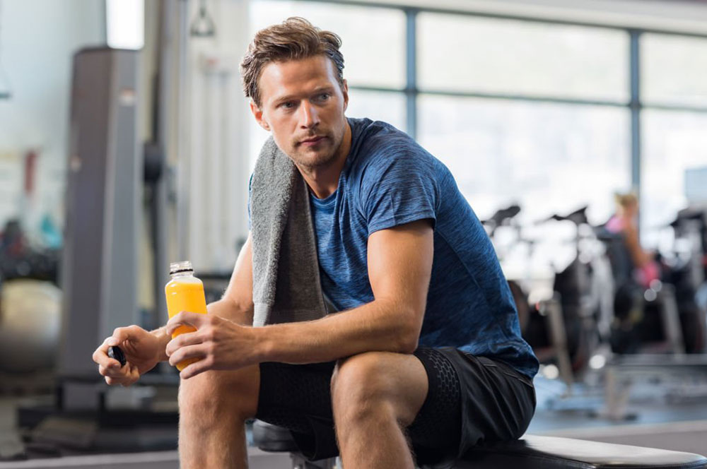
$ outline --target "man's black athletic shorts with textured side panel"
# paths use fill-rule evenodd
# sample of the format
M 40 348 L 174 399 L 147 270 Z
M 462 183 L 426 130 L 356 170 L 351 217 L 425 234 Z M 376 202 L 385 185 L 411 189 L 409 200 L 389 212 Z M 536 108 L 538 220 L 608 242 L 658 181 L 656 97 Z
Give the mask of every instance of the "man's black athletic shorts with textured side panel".
M 429 388 L 407 428 L 419 464 L 457 458 L 473 446 L 518 439 L 535 410 L 532 381 L 512 367 L 455 348 L 419 348 L 414 355 Z M 290 429 L 311 461 L 339 454 L 330 383 L 334 362 L 260 364 L 256 417 Z

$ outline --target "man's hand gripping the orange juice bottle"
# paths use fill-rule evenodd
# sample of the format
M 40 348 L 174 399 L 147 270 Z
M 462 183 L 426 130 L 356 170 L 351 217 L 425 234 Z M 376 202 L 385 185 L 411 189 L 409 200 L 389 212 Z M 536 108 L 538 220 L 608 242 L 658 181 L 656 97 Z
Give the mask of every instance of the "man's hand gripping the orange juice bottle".
M 189 379 L 210 369 L 239 369 L 256 364 L 257 340 L 251 327 L 240 326 L 214 314 L 182 311 L 167 323 L 167 333 L 179 326 L 192 326 L 195 332 L 183 333 L 170 340 L 165 352 L 170 364 L 189 358 L 199 361 L 182 370 L 182 379 Z

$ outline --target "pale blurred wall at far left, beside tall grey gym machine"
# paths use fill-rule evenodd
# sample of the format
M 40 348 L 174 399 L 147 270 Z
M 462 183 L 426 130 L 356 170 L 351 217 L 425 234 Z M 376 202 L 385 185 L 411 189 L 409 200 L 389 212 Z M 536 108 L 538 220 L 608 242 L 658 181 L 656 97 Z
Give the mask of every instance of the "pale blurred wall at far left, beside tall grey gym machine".
M 38 150 L 34 210 L 63 219 L 71 57 L 103 43 L 103 0 L 0 0 L 0 66 L 11 84 L 0 100 L 0 227 L 21 210 L 22 161 Z M 30 226 L 30 230 L 33 226 Z

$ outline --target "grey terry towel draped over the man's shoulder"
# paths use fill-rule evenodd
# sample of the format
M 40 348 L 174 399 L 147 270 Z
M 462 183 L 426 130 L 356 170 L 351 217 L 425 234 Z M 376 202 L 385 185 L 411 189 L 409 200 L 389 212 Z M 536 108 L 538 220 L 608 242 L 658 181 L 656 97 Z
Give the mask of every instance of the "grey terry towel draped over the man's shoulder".
M 253 326 L 325 316 L 309 189 L 272 137 L 260 150 L 251 194 Z

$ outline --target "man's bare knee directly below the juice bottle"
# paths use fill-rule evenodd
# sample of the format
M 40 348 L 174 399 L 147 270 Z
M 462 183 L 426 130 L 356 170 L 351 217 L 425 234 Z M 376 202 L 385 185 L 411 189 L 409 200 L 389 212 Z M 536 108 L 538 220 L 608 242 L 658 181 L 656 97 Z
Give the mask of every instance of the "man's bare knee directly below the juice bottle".
M 209 371 L 180 383 L 180 414 L 201 420 L 255 417 L 258 405 L 259 369 L 257 365 L 236 372 Z

